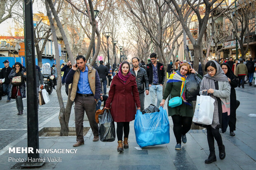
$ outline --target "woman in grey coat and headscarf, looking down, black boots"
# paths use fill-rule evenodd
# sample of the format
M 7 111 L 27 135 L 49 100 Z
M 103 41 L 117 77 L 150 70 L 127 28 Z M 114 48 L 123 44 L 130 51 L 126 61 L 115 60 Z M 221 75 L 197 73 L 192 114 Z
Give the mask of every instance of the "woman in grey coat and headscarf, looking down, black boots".
M 201 86 L 200 95 L 204 91 L 215 99 L 213 122 L 211 125 L 206 126 L 207 141 L 209 145 L 210 155 L 205 163 L 212 163 L 216 161 L 214 139 L 217 141 L 219 148 L 219 157 L 221 160 L 225 158 L 225 146 L 223 145 L 222 138 L 219 132 L 223 123 L 223 116 L 226 117 L 230 114 L 230 84 L 228 77 L 224 74 L 220 65 L 216 61 L 208 61 L 205 66 L 205 71 L 208 74 L 204 75 Z

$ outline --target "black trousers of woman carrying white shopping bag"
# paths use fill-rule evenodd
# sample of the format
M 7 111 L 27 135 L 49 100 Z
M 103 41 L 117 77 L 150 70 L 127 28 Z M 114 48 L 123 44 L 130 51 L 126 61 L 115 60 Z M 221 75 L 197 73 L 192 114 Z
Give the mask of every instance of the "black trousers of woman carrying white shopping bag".
M 211 125 L 206 127 L 207 130 L 207 141 L 210 152 L 215 152 L 214 139 L 217 141 L 218 146 L 222 146 L 222 138 L 219 132 L 219 128 L 213 129 Z

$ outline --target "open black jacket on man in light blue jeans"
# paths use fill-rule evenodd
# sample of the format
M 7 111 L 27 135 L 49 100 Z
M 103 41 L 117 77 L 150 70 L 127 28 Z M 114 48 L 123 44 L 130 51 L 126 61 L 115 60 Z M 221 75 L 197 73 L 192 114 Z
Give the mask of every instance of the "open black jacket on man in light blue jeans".
M 149 84 L 153 82 L 153 65 L 152 63 L 147 64 L 146 67 L 147 77 L 149 79 Z M 158 73 L 158 83 L 164 84 L 165 73 L 164 73 L 164 65 L 162 63 L 157 62 L 157 73 Z

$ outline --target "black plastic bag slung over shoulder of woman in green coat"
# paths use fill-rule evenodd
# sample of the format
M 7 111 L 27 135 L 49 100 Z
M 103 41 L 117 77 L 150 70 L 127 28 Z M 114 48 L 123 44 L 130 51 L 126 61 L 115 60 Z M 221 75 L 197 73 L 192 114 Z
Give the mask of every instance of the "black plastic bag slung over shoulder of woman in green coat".
M 197 100 L 197 95 L 199 95 L 201 79 L 194 74 L 189 74 L 186 78 L 186 90 L 185 96 L 186 100 Z

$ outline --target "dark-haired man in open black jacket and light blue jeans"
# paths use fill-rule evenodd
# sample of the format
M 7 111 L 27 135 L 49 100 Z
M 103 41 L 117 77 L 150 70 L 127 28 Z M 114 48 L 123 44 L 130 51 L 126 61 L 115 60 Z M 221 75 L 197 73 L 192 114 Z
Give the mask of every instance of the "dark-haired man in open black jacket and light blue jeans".
M 165 79 L 164 66 L 162 63 L 157 62 L 157 55 L 150 54 L 151 63 L 147 64 L 147 77 L 149 79 L 149 93 L 151 104 L 160 106 L 163 98 L 163 84 Z M 157 98 L 157 102 L 155 101 Z

